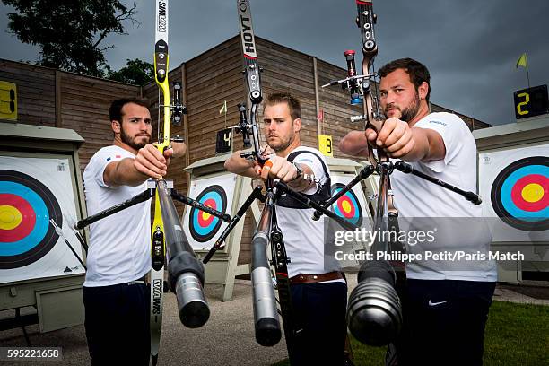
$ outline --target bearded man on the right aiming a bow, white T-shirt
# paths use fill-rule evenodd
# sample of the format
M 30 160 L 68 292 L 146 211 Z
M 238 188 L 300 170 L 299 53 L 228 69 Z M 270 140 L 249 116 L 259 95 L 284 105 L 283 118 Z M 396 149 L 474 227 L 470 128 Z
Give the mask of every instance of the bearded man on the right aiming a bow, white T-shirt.
M 368 156 L 368 144 L 391 159 L 408 161 L 415 170 L 476 192 L 476 145 L 466 123 L 451 113 L 430 113 L 431 76 L 411 58 L 379 69 L 379 101 L 387 119 L 375 131 L 352 131 L 339 144 L 343 153 Z M 482 217 L 482 207 L 461 199 L 430 182 L 395 170 L 391 175 L 399 217 Z M 433 228 L 422 228 L 432 230 Z M 435 229 L 436 230 L 436 229 Z M 472 228 L 463 228 L 472 231 Z M 435 240 L 429 250 L 483 251 L 490 233 L 470 243 L 465 232 Z M 467 247 L 470 245 L 470 247 Z M 423 250 L 424 248 L 408 248 Z M 484 327 L 497 280 L 496 266 L 460 264 L 459 271 L 441 263 L 423 261 L 406 265 L 403 300 L 404 325 L 400 339 L 388 349 L 387 364 L 480 365 L 483 363 Z

